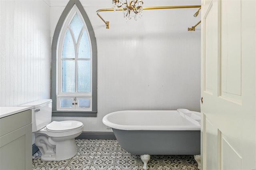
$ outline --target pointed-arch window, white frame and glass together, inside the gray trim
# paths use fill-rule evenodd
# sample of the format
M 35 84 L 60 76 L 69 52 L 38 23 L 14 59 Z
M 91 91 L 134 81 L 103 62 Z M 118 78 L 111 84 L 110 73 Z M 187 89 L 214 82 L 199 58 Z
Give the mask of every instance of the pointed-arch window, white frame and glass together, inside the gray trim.
M 66 17 L 58 40 L 57 110 L 92 111 L 92 47 L 76 5 Z M 70 107 L 70 103 L 74 105 Z

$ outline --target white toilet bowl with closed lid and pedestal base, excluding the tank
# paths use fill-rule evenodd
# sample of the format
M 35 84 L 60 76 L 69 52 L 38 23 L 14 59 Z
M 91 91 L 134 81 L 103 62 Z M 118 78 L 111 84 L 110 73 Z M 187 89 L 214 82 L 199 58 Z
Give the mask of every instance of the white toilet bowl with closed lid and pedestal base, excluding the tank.
M 53 123 L 56 124 L 55 127 L 51 127 Z M 73 125 L 63 126 L 65 124 Z M 65 127 L 66 130 L 61 127 Z M 83 124 L 78 121 L 54 121 L 34 132 L 35 144 L 42 152 L 41 160 L 66 160 L 75 156 L 77 153 L 75 137 L 83 130 Z

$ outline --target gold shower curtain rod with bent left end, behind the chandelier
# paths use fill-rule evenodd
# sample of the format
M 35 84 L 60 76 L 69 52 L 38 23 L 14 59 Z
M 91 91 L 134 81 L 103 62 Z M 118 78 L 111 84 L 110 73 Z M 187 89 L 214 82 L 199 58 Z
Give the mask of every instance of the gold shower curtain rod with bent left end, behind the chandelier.
M 143 7 L 143 10 L 162 10 L 162 9 L 176 9 L 176 8 L 201 8 L 201 5 L 190 5 L 190 6 L 152 6 L 152 7 Z M 122 11 L 123 8 L 119 8 L 119 10 L 116 11 Z M 100 16 L 99 12 L 103 11 L 114 11 L 113 8 L 107 8 L 107 9 L 99 9 L 96 11 L 96 14 L 102 19 L 102 21 L 106 24 L 106 28 L 108 29 L 109 27 L 109 22 L 105 21 L 102 16 Z M 201 21 L 200 21 L 201 22 Z M 200 22 L 197 23 L 200 24 Z M 196 25 L 196 26 L 197 26 Z M 194 27 L 196 27 L 194 26 Z M 193 28 L 193 27 L 192 27 Z

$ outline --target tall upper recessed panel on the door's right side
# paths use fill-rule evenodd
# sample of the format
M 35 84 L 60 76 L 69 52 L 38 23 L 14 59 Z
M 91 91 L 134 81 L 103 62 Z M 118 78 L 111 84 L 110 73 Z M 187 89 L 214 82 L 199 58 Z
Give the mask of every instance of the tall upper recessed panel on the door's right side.
M 220 8 L 220 95 L 241 102 L 241 1 L 224 0 Z M 230 12 L 227 9 L 236 9 Z

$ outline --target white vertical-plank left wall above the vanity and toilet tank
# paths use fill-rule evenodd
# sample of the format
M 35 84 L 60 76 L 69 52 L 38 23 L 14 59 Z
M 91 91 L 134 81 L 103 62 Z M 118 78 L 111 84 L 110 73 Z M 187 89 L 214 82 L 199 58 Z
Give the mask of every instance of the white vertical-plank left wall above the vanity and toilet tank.
M 50 98 L 50 6 L 0 0 L 0 106 Z

